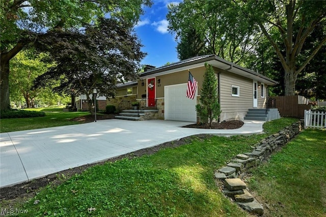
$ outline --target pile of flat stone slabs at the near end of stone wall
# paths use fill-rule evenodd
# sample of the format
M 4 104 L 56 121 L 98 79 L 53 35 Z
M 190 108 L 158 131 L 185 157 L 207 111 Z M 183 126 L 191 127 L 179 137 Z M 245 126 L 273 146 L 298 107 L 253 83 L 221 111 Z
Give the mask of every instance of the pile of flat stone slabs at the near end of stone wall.
M 244 210 L 252 214 L 262 215 L 263 206 L 248 192 L 247 185 L 239 178 L 225 179 L 226 188 L 223 193 L 231 198 Z

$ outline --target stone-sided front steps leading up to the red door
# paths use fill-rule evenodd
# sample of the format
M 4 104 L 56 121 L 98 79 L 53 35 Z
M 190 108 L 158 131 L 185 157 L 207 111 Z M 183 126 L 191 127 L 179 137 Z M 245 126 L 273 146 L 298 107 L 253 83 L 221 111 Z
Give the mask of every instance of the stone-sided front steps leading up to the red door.
M 158 119 L 158 110 L 123 110 L 115 118 L 131 121 Z

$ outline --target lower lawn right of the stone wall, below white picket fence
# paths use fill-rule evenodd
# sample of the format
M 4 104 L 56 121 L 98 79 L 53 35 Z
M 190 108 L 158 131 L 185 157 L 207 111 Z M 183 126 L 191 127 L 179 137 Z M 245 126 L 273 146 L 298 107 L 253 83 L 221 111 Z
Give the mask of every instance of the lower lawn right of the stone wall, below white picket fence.
M 326 216 L 325 156 L 326 130 L 307 129 L 253 171 L 249 186 L 266 216 Z

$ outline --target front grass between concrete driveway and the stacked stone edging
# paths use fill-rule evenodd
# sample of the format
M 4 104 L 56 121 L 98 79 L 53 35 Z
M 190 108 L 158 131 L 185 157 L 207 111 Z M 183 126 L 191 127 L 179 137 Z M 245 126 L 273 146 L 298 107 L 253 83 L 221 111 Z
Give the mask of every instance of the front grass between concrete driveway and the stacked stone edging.
M 17 204 L 28 210 L 20 216 L 249 216 L 223 196 L 214 170 L 293 121 L 267 122 L 267 134 L 192 137 L 177 148 L 91 167 Z

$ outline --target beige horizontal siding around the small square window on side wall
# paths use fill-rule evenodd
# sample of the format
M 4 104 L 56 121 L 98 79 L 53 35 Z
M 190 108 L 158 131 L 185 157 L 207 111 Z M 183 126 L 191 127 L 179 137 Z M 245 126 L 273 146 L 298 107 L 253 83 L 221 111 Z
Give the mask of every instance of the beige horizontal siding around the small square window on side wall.
M 239 96 L 232 96 L 232 85 L 239 87 Z M 241 120 L 253 107 L 253 80 L 230 72 L 220 73 L 221 121 Z

